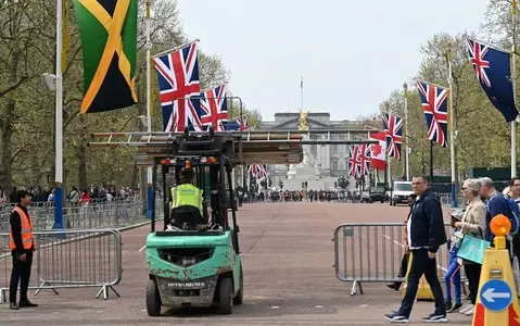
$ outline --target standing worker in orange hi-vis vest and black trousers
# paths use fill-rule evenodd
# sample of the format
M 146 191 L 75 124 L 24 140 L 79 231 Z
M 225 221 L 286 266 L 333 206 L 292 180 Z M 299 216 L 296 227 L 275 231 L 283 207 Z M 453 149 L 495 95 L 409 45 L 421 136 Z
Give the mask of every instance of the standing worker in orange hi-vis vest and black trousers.
M 26 190 L 16 191 L 16 205 L 11 213 L 11 231 L 9 233 L 9 249 L 11 249 L 13 255 L 13 269 L 9 286 L 9 308 L 12 310 L 18 310 L 21 306 L 38 306 L 38 304 L 27 299 L 33 252 L 36 250 L 33 237 L 33 223 L 27 211 L 29 204 L 30 193 Z M 20 303 L 16 303 L 18 281 Z

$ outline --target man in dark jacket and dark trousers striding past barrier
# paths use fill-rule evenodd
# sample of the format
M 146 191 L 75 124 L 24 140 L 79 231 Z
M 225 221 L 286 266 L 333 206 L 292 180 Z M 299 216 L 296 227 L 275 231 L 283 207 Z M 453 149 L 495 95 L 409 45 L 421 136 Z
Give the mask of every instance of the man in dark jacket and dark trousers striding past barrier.
M 407 288 L 398 311 L 386 314 L 392 323 L 407 323 L 417 296 L 419 279 L 424 275 L 435 299 L 435 311 L 422 318 L 424 322 L 445 323 L 446 309 L 441 283 L 436 273 L 436 252 L 447 242 L 444 230 L 441 202 L 435 193 L 428 189 L 424 177 L 414 177 L 411 188 L 417 199 L 408 218 L 407 250 L 411 252 L 411 266 L 408 273 Z

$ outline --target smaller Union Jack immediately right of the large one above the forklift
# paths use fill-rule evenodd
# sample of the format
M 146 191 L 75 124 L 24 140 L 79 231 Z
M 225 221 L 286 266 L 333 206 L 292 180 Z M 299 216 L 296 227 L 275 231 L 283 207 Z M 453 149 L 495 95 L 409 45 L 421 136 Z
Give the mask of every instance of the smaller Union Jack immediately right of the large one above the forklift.
M 196 101 L 196 99 L 194 100 Z M 193 104 L 196 105 L 196 102 Z M 202 125 L 206 126 L 206 128 L 211 126 L 215 131 L 226 130 L 224 122 L 228 120 L 228 104 L 225 85 L 201 93 L 200 104 Z

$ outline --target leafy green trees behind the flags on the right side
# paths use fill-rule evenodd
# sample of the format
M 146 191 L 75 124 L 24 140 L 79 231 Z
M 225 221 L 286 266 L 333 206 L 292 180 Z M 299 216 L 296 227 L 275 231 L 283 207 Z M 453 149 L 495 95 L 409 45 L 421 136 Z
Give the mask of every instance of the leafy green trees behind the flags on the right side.
M 465 40 L 467 36 L 470 36 L 487 40 L 502 48 L 510 48 L 510 3 L 509 0 L 490 0 L 487 14 L 479 35 L 469 32 L 453 36 L 439 33 L 421 46 L 423 60 L 414 79 L 408 80 L 406 95 L 408 130 L 403 127 L 403 140 L 406 142 L 405 136 L 408 136 L 408 145 L 411 148 L 410 173 L 413 175 L 428 175 L 430 168 L 430 141 L 427 139 L 426 117 L 415 79 L 448 87 L 448 50 L 452 50 L 454 129 L 457 130 L 455 143 L 458 170 L 466 172 L 475 166 L 497 167 L 510 164 L 510 125 L 505 122 L 482 90 L 470 64 Z M 515 73 L 518 77 L 519 70 L 517 68 Z M 404 97 L 405 93 L 402 89 L 395 89 L 382 101 L 380 110 L 405 117 Z M 365 118 L 372 120 L 372 116 Z M 376 127 L 380 128 L 378 125 Z M 449 142 L 449 138 L 447 140 Z M 405 175 L 405 151 L 406 145 L 404 143 L 402 161 L 397 162 L 394 159 L 391 161 L 393 176 Z M 435 174 L 449 175 L 449 145 L 447 148 L 434 145 L 433 158 Z

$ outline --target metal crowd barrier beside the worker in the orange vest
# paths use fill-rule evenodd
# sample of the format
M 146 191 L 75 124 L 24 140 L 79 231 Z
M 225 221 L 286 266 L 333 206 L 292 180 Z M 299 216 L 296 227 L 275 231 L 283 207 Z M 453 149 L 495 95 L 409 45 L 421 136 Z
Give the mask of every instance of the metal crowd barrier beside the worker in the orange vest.
M 36 231 L 29 289 L 99 288 L 109 299 L 123 274 L 122 236 L 115 229 Z M 9 234 L 0 233 L 0 303 L 7 302 L 12 269 Z

